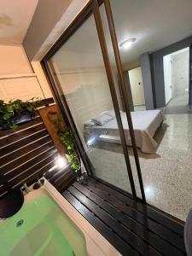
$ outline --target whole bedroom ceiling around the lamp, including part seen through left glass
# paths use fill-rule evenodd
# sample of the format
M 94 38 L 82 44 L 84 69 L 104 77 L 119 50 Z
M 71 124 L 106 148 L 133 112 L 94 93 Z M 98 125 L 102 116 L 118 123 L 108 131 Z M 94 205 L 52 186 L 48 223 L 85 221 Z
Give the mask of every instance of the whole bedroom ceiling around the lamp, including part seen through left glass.
M 153 52 L 192 35 L 191 0 L 110 0 L 118 43 L 137 38 L 131 49 L 120 49 L 124 67 Z M 109 54 L 113 56 L 108 24 L 100 7 Z M 62 54 L 61 54 L 62 52 Z M 64 69 L 98 67 L 103 63 L 93 19 L 89 19 L 57 54 Z

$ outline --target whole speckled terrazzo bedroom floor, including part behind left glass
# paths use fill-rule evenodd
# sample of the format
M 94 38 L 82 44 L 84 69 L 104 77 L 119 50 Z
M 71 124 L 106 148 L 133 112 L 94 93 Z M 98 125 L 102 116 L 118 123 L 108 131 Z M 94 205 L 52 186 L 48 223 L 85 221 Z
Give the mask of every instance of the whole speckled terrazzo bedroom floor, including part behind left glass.
M 172 104 L 177 102 L 177 99 L 174 100 Z M 178 102 L 183 100 L 180 98 Z M 192 113 L 187 108 L 185 113 L 166 113 L 166 120 L 154 138 L 160 144 L 155 154 L 143 154 L 138 150 L 147 201 L 185 220 L 192 208 Z M 120 151 L 118 145 L 115 152 L 94 148 L 90 158 L 96 166 L 97 177 L 131 192 L 124 156 Z M 129 153 L 137 193 L 140 195 L 131 148 Z

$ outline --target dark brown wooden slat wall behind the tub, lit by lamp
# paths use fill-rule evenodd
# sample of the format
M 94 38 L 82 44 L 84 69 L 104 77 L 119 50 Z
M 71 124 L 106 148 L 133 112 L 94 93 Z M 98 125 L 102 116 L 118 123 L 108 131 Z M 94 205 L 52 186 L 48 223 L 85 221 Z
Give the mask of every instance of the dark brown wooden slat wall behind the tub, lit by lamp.
M 0 197 L 9 190 L 31 185 L 43 175 L 61 192 L 73 183 L 70 166 L 55 166 L 59 157 L 55 144 L 37 115 L 15 132 L 0 133 Z

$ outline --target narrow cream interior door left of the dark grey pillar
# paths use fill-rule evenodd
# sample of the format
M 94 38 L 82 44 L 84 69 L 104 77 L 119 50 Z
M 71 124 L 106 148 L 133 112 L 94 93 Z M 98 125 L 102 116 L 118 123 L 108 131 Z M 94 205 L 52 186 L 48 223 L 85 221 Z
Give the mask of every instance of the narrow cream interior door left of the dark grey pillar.
M 142 69 L 137 67 L 129 71 L 131 94 L 134 106 L 145 105 Z

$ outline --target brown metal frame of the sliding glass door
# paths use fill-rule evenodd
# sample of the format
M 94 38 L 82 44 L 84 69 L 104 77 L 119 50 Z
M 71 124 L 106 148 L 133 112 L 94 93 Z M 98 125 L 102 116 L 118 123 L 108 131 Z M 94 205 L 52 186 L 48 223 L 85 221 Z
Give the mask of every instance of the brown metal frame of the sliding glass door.
M 109 85 L 109 90 L 111 93 L 112 101 L 113 101 L 113 108 L 115 112 L 115 116 L 117 119 L 117 123 L 119 126 L 119 136 L 121 139 L 121 144 L 122 148 L 124 151 L 124 156 L 125 156 L 125 164 L 127 167 L 127 173 L 129 176 L 129 182 L 131 184 L 131 192 L 132 196 L 134 199 L 137 199 L 137 192 L 135 189 L 135 183 L 134 179 L 132 176 L 132 171 L 131 171 L 131 163 L 129 159 L 129 154 L 128 154 L 128 149 L 126 146 L 126 141 L 125 141 L 125 131 L 123 129 L 122 125 L 122 120 L 121 116 L 119 113 L 119 103 L 116 95 L 116 90 L 113 82 L 113 73 L 112 73 L 112 68 L 111 64 L 109 61 L 109 56 L 108 56 L 108 47 L 106 44 L 105 40 L 105 35 L 102 27 L 102 19 L 99 11 L 99 5 L 102 3 L 105 4 L 105 10 L 108 18 L 108 26 L 109 26 L 109 31 L 113 43 L 113 50 L 114 50 L 114 55 L 115 55 L 115 61 L 116 65 L 118 68 L 118 74 L 119 74 L 119 84 L 120 88 L 123 91 L 123 102 L 125 104 L 125 113 L 126 117 L 128 120 L 129 124 L 129 129 L 130 129 L 130 134 L 131 134 L 131 143 L 133 147 L 133 152 L 134 152 L 134 158 L 136 161 L 136 166 L 137 166 L 137 175 L 139 179 L 139 184 L 140 184 L 140 189 L 142 192 L 142 200 L 143 202 L 146 202 L 145 200 L 145 195 L 144 195 L 144 189 L 143 189 L 143 179 L 142 179 L 142 173 L 141 173 L 141 168 L 139 164 L 139 159 L 138 159 L 138 154 L 137 154 L 137 146 L 136 146 L 136 141 L 135 141 L 135 136 L 134 136 L 134 131 L 133 131 L 133 126 L 132 126 L 132 121 L 131 121 L 131 112 L 129 108 L 129 103 L 127 101 L 127 91 L 125 88 L 124 80 L 123 80 L 123 70 L 122 70 L 122 65 L 120 61 L 120 56 L 119 56 L 119 48 L 117 44 L 117 38 L 114 30 L 114 25 L 113 25 L 113 15 L 112 11 L 110 8 L 110 3 L 109 0 L 91 0 L 90 3 L 88 3 L 85 8 L 81 11 L 81 13 L 76 17 L 75 20 L 73 20 L 73 23 L 67 28 L 66 32 L 64 32 L 61 35 L 61 38 L 58 39 L 58 41 L 54 44 L 54 46 L 49 50 L 48 54 L 44 56 L 43 60 L 41 61 L 42 67 L 44 68 L 45 73 L 47 74 L 47 77 L 49 79 L 49 84 L 52 88 L 52 91 L 55 95 L 56 102 L 58 102 L 60 108 L 61 108 L 61 113 L 63 114 L 64 118 L 67 118 L 68 124 L 70 125 L 71 129 L 74 132 L 76 141 L 77 141 L 77 147 L 79 149 L 79 154 L 84 162 L 84 166 L 86 167 L 87 171 L 91 175 L 91 163 L 88 158 L 88 156 L 84 153 L 84 147 L 81 142 L 81 139 L 79 137 L 79 132 L 77 131 L 76 125 L 73 121 L 73 116 L 68 108 L 67 105 L 67 100 L 65 96 L 63 95 L 63 92 L 61 90 L 61 84 L 58 79 L 55 80 L 55 76 L 53 75 L 53 67 L 49 67 L 49 59 L 55 55 L 55 53 L 61 48 L 65 42 L 67 42 L 67 39 L 70 38 L 74 32 L 77 31 L 79 26 L 84 22 L 84 20 L 87 20 L 90 15 L 94 15 L 95 22 L 96 22 L 96 30 L 99 38 L 99 42 L 101 45 L 102 49 L 102 56 L 103 56 L 103 61 L 105 64 L 105 69 L 108 77 L 108 85 Z M 51 72 L 52 71 L 52 72 Z

